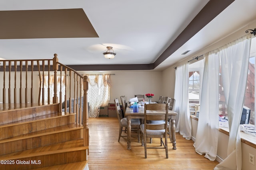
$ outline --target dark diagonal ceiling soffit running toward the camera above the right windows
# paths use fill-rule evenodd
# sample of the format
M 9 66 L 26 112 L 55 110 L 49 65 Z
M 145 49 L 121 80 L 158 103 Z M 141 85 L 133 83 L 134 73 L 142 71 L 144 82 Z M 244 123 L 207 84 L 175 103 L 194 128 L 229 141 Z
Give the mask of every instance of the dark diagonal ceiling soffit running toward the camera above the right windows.
M 210 0 L 172 44 L 156 59 L 154 68 L 170 57 L 184 43 L 227 8 L 234 0 Z

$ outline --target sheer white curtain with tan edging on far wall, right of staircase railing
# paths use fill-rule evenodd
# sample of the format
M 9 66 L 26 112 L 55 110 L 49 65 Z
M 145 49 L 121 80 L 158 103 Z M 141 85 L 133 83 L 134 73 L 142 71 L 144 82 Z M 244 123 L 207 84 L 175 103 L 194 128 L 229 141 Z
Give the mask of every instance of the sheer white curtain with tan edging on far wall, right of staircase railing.
M 110 74 L 87 75 L 89 78 L 88 102 L 89 117 L 99 117 L 100 106 L 108 105 L 110 100 Z

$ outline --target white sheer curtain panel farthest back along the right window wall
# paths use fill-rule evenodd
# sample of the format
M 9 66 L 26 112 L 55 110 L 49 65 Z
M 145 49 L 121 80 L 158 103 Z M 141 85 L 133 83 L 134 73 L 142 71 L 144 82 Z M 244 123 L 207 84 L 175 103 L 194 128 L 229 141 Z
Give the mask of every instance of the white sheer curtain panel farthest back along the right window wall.
M 174 111 L 178 113 L 176 119 L 176 132 L 180 132 L 184 138 L 191 138 L 191 121 L 188 104 L 189 70 L 188 63 L 177 67 L 175 74 L 174 98 L 176 100 Z

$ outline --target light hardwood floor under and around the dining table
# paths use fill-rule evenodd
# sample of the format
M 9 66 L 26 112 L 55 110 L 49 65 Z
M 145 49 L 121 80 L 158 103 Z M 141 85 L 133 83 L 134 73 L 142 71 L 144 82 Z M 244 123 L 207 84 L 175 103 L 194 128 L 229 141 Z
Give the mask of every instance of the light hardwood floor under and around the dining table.
M 164 149 L 148 149 L 148 158 L 144 158 L 144 147 L 138 143 L 136 134 L 132 137 L 132 149 L 127 150 L 126 137 L 118 142 L 118 133 L 117 118 L 89 118 L 90 170 L 213 170 L 218 164 L 197 154 L 193 141 L 184 139 L 179 133 L 176 133 L 177 150 L 172 150 L 168 139 L 168 159 Z M 152 145 L 160 145 L 160 139 L 153 139 Z

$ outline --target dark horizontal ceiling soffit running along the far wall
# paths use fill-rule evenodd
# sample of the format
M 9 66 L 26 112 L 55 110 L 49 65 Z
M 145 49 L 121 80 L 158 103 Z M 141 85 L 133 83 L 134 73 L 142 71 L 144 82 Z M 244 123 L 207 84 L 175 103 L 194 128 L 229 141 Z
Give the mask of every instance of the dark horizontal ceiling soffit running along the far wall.
M 153 70 L 154 64 L 67 65 L 76 71 Z

